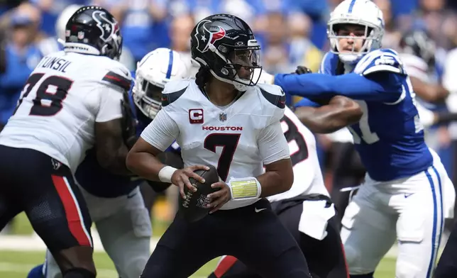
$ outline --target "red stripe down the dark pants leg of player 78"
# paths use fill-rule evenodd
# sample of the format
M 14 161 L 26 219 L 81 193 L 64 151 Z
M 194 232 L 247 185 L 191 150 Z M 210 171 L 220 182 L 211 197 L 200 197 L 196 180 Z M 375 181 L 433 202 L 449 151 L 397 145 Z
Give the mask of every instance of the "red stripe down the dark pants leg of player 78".
M 84 219 L 79 216 L 78 203 L 73 197 L 72 190 L 63 177 L 51 175 L 53 178 L 54 187 L 57 190 L 57 194 L 60 196 L 63 207 L 65 209 L 65 216 L 67 218 L 68 228 L 70 233 L 76 238 L 79 245 L 91 246 L 91 240 L 88 238 L 86 231 L 84 230 Z

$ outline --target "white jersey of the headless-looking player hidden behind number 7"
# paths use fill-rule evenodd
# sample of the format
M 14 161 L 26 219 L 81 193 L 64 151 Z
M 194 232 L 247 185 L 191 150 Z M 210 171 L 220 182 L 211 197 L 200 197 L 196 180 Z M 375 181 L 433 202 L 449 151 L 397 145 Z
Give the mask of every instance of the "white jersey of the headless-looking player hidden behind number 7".
M 317 158 L 316 139 L 311 130 L 304 126 L 288 107 L 285 109 L 281 126 L 289 143 L 290 159 L 294 167 L 294 183 L 288 191 L 269 196 L 268 200 L 280 201 L 307 194 L 330 196 L 322 178 L 321 166 Z

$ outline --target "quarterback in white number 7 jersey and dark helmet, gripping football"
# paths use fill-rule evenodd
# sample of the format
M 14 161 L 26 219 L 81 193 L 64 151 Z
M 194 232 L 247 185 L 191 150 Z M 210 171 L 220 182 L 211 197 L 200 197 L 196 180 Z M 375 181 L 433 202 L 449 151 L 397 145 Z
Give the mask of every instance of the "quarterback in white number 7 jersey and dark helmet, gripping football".
M 285 95 L 275 86 L 255 86 L 260 46 L 252 30 L 236 16 L 209 16 L 192 30 L 191 45 L 201 65 L 197 79 L 165 86 L 163 108 L 127 164 L 141 177 L 177 184 L 181 194 L 192 188 L 189 177 L 202 180 L 194 170 L 214 165 L 221 182 L 212 187 L 220 190 L 209 194 L 211 213 L 202 220 L 189 223 L 177 213 L 141 277 L 189 277 L 225 254 L 263 277 L 310 277 L 299 246 L 264 199 L 290 189 L 293 172 L 280 125 Z M 185 169 L 156 158 L 175 139 Z M 245 182 L 244 194 L 231 194 L 234 181 Z

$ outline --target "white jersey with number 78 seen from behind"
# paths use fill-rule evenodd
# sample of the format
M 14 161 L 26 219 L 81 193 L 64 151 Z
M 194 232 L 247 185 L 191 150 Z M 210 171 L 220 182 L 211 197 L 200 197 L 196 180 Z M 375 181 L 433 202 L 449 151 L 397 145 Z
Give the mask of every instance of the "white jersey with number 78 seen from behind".
M 0 144 L 38 150 L 74 172 L 94 145 L 94 123 L 122 117 L 130 72 L 108 57 L 55 52 L 28 78 Z

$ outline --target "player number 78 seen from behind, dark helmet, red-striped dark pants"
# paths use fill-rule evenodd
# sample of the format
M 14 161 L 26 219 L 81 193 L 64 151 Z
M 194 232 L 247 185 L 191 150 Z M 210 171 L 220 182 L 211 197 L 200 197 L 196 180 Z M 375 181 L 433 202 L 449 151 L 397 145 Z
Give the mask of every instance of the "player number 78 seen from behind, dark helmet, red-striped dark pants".
M 100 165 L 129 174 L 123 117 L 131 75 L 116 62 L 119 25 L 97 6 L 67 23 L 65 50 L 43 58 L 0 134 L 0 228 L 25 211 L 64 278 L 93 278 L 91 219 L 73 174 L 97 144 Z M 125 132 L 128 130 L 128 132 Z

